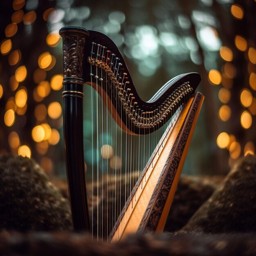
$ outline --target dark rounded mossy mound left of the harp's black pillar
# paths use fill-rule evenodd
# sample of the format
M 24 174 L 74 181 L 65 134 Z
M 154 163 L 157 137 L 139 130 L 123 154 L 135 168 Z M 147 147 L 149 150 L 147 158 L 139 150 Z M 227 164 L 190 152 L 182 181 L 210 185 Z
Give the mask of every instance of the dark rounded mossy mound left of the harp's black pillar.
M 0 229 L 72 228 L 69 202 L 40 166 L 21 156 L 0 156 Z

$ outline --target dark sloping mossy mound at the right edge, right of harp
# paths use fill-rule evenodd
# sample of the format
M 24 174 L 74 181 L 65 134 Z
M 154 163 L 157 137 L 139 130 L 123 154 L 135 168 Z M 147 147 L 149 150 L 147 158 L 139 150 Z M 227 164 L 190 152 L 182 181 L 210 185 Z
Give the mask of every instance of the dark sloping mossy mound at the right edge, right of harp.
M 256 232 L 256 156 L 243 157 L 181 231 Z

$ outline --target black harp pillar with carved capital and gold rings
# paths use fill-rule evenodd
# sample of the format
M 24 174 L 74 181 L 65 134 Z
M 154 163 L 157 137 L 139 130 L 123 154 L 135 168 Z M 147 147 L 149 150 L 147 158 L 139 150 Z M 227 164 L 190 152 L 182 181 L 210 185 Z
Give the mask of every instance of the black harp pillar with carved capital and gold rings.
M 63 38 L 63 132 L 70 205 L 74 230 L 89 231 L 83 159 L 83 51 L 89 33 L 79 27 L 65 27 L 60 35 Z

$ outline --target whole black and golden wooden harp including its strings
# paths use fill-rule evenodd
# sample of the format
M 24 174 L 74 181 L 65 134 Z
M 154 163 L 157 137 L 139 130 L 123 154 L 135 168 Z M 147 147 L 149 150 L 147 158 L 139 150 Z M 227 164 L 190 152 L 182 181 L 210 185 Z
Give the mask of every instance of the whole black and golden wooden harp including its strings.
M 195 92 L 200 75 L 176 76 L 145 102 L 108 36 L 81 27 L 64 27 L 60 34 L 74 229 L 111 241 L 134 232 L 161 232 L 204 98 Z M 86 131 L 93 134 L 85 143 L 83 98 L 93 105 L 85 107 L 92 119 Z M 85 174 L 86 154 L 92 160 Z

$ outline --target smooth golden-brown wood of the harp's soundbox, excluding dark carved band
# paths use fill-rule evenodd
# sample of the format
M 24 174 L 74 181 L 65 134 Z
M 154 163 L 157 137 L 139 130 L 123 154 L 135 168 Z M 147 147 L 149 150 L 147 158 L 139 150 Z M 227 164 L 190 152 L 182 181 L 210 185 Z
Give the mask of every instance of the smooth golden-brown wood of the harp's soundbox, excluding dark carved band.
M 156 232 L 162 231 L 164 228 L 164 224 L 165 224 L 169 209 L 171 207 L 171 202 L 173 200 L 177 183 L 180 178 L 180 173 L 182 171 L 182 167 L 186 158 L 186 153 L 189 148 L 189 144 L 193 135 L 193 130 L 195 128 L 195 124 L 199 115 L 200 107 L 202 105 L 202 101 L 203 101 L 203 97 L 200 98 L 198 110 L 193 120 L 191 130 L 189 132 L 189 139 L 186 142 L 186 146 L 184 148 L 182 157 L 180 159 L 180 163 L 178 165 L 178 168 L 175 173 L 175 177 L 171 186 L 171 191 L 167 198 L 166 206 L 164 207 L 162 216 L 159 220 L 159 224 L 157 225 L 157 229 L 155 230 Z M 194 102 L 195 102 L 195 98 L 190 99 L 190 101 L 186 104 L 186 106 L 182 110 L 174 127 L 170 129 L 166 135 L 164 135 L 166 137 L 163 141 L 163 147 L 162 145 L 158 146 L 159 155 L 157 150 L 155 152 L 155 155 L 152 158 L 153 165 L 149 164 L 148 168 L 144 170 L 143 178 L 141 179 L 139 184 L 137 184 L 137 191 L 132 196 L 132 198 L 128 199 L 130 203 L 125 209 L 124 216 L 122 217 L 119 223 L 117 222 L 117 226 L 115 227 L 114 233 L 110 236 L 110 238 L 112 238 L 111 240 L 112 242 L 115 242 L 121 238 L 124 238 L 125 236 L 131 233 L 135 233 L 139 229 L 139 225 L 147 209 L 150 198 L 153 195 L 153 191 L 157 185 L 159 177 L 163 171 L 164 166 L 166 165 L 166 161 L 173 148 L 174 142 L 177 140 L 177 135 L 180 133 L 181 129 L 184 127 L 184 124 L 189 119 L 189 114 L 190 114 L 189 110 L 191 110 L 191 107 L 193 106 Z

